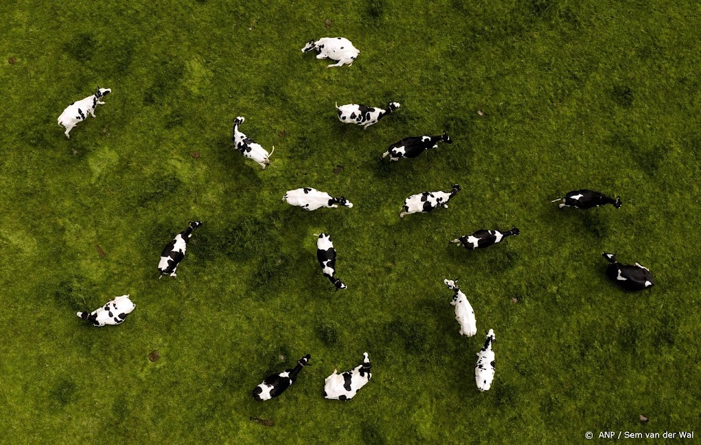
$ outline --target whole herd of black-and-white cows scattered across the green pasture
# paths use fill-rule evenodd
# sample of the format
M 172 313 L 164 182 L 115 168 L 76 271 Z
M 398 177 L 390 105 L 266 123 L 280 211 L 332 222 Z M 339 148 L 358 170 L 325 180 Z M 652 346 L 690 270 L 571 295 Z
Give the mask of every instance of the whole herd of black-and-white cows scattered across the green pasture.
M 360 51 L 353 46 L 351 41 L 337 38 L 323 38 L 318 41 L 309 41 L 302 53 L 315 50 L 318 52 L 318 59 L 338 60 L 336 64 L 330 64 L 328 67 L 340 67 L 343 64 L 351 65 Z M 111 93 L 110 89 L 97 87 L 97 92 L 83 100 L 79 100 L 69 105 L 67 109 L 58 118 L 59 125 L 62 125 L 66 131 L 66 137 L 69 132 L 81 121 L 85 120 L 88 114 L 95 117 L 95 108 L 98 104 L 102 105 L 100 99 Z M 397 102 L 390 102 L 386 109 L 367 107 L 360 104 L 346 104 L 341 107 L 336 104 L 339 121 L 343 123 L 355 123 L 362 125 L 367 129 L 370 125 L 374 125 L 381 118 L 388 116 L 393 111 L 400 108 Z M 253 139 L 247 137 L 243 132 L 240 132 L 239 126 L 243 124 L 245 119 L 238 116 L 233 121 L 233 143 L 236 149 L 240 151 L 245 158 L 254 160 L 263 170 L 270 164 L 270 156 L 273 150 L 268 153 L 260 144 L 254 142 Z M 451 144 L 452 140 L 445 132 L 439 136 L 420 136 L 406 137 L 395 144 L 389 146 L 388 150 L 383 153 L 380 159 L 390 156 L 390 160 L 400 160 L 401 158 L 416 158 L 423 151 L 435 149 L 439 142 Z M 461 190 L 458 184 L 452 186 L 451 191 L 426 191 L 409 196 L 404 200 L 404 205 L 399 214 L 404 217 L 406 214 L 426 213 L 431 212 L 438 207 L 448 207 L 449 201 Z M 321 207 L 338 208 L 339 206 L 352 208 L 353 204 L 345 197 L 340 196 L 334 198 L 322 191 L 304 187 L 287 191 L 283 196 L 283 201 L 290 204 L 302 207 L 304 210 L 312 211 Z M 561 201 L 559 207 L 576 207 L 578 209 L 590 209 L 599 207 L 605 204 L 611 204 L 616 208 L 620 208 L 622 203 L 620 196 L 617 198 L 609 198 L 608 196 L 591 190 L 576 190 L 566 194 L 563 198 L 557 198 L 552 202 Z M 191 221 L 188 227 L 175 235 L 172 241 L 168 243 L 161 253 L 161 260 L 158 262 L 158 271 L 163 275 L 170 275 L 175 278 L 177 276 L 177 267 L 184 259 L 187 249 L 187 243 L 192 238 L 193 232 L 202 226 L 201 221 Z M 508 236 L 519 235 L 519 229 L 513 226 L 508 231 L 498 230 L 478 230 L 471 235 L 463 235 L 450 242 L 458 243 L 466 249 L 480 249 L 501 242 Z M 604 252 L 604 257 L 608 261 L 606 275 L 611 280 L 614 280 L 618 285 L 627 290 L 640 290 L 651 287 L 654 284 L 653 277 L 647 268 L 639 263 L 634 265 L 620 264 L 616 261 L 615 254 Z M 322 268 L 322 274 L 329 279 L 336 287 L 336 290 L 346 289 L 339 278 L 336 278 L 336 249 L 331 240 L 331 235 L 321 233 L 317 239 L 317 260 Z M 454 291 L 451 305 L 455 306 L 455 317 L 460 325 L 460 334 L 464 336 L 474 336 L 477 334 L 477 321 L 475 319 L 475 311 L 472 309 L 467 297 L 456 285 L 457 280 L 444 280 L 445 285 Z M 136 305 L 129 299 L 129 295 L 118 296 L 114 300 L 109 301 L 101 308 L 93 310 L 92 313 L 79 312 L 76 315 L 84 320 L 88 320 L 95 326 L 104 326 L 105 324 L 121 324 L 134 309 Z M 475 366 L 475 383 L 477 388 L 482 391 L 491 388 L 494 380 L 494 351 L 492 343 L 496 341 L 494 330 L 489 329 L 484 341 L 484 347 L 477 352 L 477 365 Z M 305 367 L 311 355 L 305 355 L 297 360 L 297 366 L 292 369 L 278 374 L 272 374 L 253 390 L 253 397 L 257 400 L 268 400 L 273 397 L 278 397 L 287 388 L 294 383 L 299 371 Z M 352 399 L 355 394 L 367 384 L 372 377 L 370 373 L 370 360 L 367 352 L 363 354 L 362 363 L 341 374 L 334 373 L 325 380 L 324 397 L 327 399 L 348 400 Z

